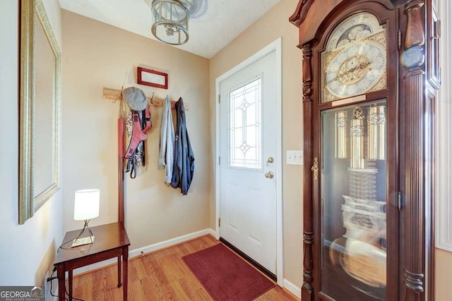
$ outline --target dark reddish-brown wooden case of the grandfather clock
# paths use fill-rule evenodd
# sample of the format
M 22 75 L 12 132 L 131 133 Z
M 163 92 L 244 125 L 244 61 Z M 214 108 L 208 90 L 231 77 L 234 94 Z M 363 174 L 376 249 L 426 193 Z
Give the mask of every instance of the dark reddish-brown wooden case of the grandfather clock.
M 386 26 L 388 85 L 366 93 L 365 100 L 350 97 L 343 103 L 386 99 L 386 291 L 383 298 L 357 291 L 341 299 L 340 294 L 328 295 L 322 282 L 321 112 L 335 105 L 321 99 L 321 52 L 336 25 L 363 11 Z M 434 105 L 440 85 L 440 29 L 432 0 L 300 0 L 289 20 L 299 27 L 302 49 L 302 300 L 434 300 Z M 340 285 L 342 279 L 337 281 Z

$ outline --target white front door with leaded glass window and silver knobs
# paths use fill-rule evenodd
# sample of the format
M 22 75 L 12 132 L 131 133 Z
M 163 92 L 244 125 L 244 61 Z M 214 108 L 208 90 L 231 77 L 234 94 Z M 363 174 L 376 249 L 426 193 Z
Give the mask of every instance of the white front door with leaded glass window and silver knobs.
M 220 82 L 220 237 L 276 274 L 276 51 Z

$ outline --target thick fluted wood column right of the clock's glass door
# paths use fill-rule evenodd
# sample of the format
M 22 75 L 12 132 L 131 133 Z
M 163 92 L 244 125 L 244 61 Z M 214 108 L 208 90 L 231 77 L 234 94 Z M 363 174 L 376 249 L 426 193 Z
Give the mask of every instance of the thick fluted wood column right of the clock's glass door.
M 424 242 L 424 25 L 423 0 L 405 5 L 402 63 L 406 68 L 405 86 L 405 256 L 403 283 L 405 300 L 422 300 L 425 290 Z

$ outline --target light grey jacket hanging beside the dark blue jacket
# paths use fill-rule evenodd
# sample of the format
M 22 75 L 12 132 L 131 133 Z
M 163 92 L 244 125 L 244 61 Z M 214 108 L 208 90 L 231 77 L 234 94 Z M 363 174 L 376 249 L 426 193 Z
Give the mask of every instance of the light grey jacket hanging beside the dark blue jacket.
M 171 102 L 165 98 L 160 124 L 160 154 L 158 169 L 165 169 L 165 184 L 171 185 L 174 164 L 174 124 L 172 123 Z

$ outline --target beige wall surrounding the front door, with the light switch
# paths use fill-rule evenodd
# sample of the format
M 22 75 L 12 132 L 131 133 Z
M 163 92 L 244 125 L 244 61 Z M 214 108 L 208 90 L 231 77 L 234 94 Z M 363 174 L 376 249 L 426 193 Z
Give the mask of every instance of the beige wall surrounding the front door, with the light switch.
M 297 49 L 297 27 L 288 21 L 297 2 L 281 0 L 210 60 L 210 140 L 215 154 L 215 79 L 278 37 L 283 37 L 284 278 L 301 286 L 302 166 L 285 164 L 287 149 L 302 149 L 302 51 Z M 215 171 L 210 172 L 212 177 L 214 174 Z M 210 227 L 215 228 L 214 195 L 210 201 Z

